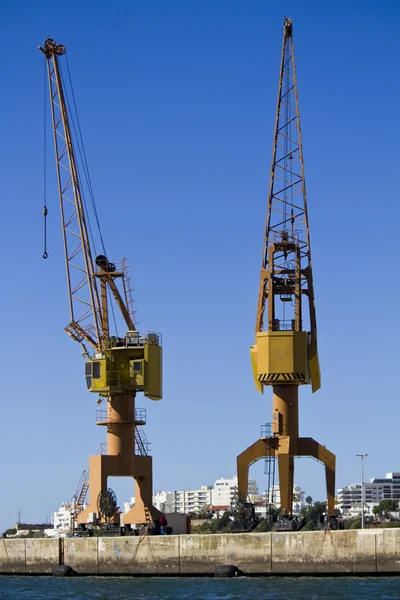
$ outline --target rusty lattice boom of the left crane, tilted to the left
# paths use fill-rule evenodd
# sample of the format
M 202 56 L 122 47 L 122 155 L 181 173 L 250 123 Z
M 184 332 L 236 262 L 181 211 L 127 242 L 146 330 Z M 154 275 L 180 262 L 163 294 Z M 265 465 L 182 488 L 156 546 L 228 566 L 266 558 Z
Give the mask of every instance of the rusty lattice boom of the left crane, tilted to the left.
M 47 58 L 71 322 L 67 333 L 101 350 L 101 309 L 58 57 L 65 47 L 48 38 Z

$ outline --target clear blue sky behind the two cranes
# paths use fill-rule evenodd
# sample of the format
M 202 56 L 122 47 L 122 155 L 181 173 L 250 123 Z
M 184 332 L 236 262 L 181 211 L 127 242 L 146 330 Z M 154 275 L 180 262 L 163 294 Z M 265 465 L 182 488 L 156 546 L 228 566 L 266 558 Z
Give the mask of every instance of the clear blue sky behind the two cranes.
M 397 2 L 5 0 L 2 93 L 0 531 L 75 492 L 95 426 L 68 298 L 53 149 L 42 260 L 43 56 L 68 49 L 106 245 L 129 257 L 139 327 L 160 331 L 164 399 L 147 409 L 155 489 L 231 477 L 271 420 L 253 343 L 283 16 L 293 18 L 322 389 L 300 431 L 337 485 L 400 471 L 397 451 L 400 84 Z M 49 125 L 49 122 L 48 122 Z M 379 226 L 378 226 L 379 225 Z M 251 470 L 259 487 L 260 464 Z M 323 467 L 296 483 L 325 498 Z M 114 486 L 122 503 L 129 487 Z

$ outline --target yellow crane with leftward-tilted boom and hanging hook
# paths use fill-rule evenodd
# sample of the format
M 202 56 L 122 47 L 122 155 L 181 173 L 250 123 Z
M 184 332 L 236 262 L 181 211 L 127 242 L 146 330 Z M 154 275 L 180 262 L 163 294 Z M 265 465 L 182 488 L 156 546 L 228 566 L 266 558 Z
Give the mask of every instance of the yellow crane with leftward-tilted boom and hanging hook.
M 90 500 L 78 521 L 118 522 L 107 478 L 123 476 L 135 480 L 135 505 L 124 516 L 123 523 L 150 523 L 161 513 L 152 504 L 152 458 L 138 429 L 145 423 L 145 411 L 135 409 L 135 398 L 138 392 L 143 392 L 152 400 L 161 399 L 161 336 L 156 333 L 142 336 L 135 327 L 125 259 L 111 262 L 103 244 L 103 253 L 93 260 L 79 168 L 83 163 L 87 176 L 87 164 L 85 157 L 82 158 L 82 138 L 79 140 L 76 132 L 78 124 L 72 116 L 71 104 L 75 100 L 66 97 L 59 62 L 66 50 L 51 38 L 39 49 L 47 63 L 67 270 L 70 322 L 65 330 L 83 347 L 88 390 L 97 394 L 99 404 L 106 401 L 106 410 L 98 411 L 97 425 L 107 428 L 107 452 L 90 457 L 90 478 L 81 490 L 84 497 L 89 488 Z M 110 313 L 113 314 L 114 305 L 122 316 L 124 335 L 111 334 Z

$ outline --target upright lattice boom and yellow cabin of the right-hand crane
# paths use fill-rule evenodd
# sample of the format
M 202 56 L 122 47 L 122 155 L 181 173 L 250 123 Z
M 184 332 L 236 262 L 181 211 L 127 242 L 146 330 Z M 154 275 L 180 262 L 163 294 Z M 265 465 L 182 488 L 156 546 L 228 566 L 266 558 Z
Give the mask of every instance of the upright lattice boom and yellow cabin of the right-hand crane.
M 303 306 L 305 302 L 308 304 L 307 313 Z M 305 317 L 308 317 L 307 320 Z M 272 367 L 262 359 L 259 361 L 259 348 L 261 354 L 268 352 L 271 355 L 266 345 L 271 349 L 275 343 L 279 345 L 283 332 L 287 332 L 286 342 L 292 344 L 294 354 L 293 368 L 289 370 L 288 362 L 286 370 L 283 369 L 284 363 L 279 370 L 276 362 Z M 297 385 L 311 382 L 313 392 L 321 387 L 291 19 L 284 21 L 255 334 L 251 358 L 256 388 L 260 392 L 268 382 L 294 381 Z M 300 346 L 305 351 L 300 350 Z M 304 360 L 300 359 L 301 354 Z

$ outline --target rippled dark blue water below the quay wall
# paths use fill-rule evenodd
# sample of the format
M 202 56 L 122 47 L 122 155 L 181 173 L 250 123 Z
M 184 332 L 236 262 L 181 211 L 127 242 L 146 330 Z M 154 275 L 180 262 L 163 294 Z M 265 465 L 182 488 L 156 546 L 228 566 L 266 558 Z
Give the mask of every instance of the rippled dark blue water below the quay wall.
M 400 599 L 400 577 L 100 578 L 0 577 L 0 598 L 22 600 Z

